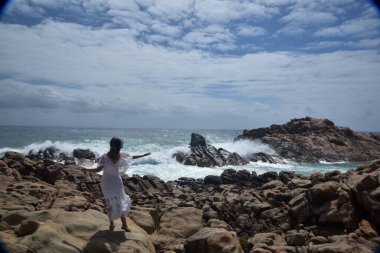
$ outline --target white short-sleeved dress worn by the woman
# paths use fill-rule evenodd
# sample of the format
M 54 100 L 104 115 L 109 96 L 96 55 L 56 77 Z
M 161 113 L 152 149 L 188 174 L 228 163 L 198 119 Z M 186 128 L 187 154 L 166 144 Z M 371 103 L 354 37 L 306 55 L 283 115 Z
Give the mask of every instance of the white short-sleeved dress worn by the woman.
M 132 164 L 132 160 L 127 153 L 120 153 L 120 159 L 115 164 L 107 154 L 100 157 L 98 167 L 103 166 L 101 186 L 110 221 L 122 216 L 126 217 L 131 208 L 131 199 L 125 194 L 121 176 Z

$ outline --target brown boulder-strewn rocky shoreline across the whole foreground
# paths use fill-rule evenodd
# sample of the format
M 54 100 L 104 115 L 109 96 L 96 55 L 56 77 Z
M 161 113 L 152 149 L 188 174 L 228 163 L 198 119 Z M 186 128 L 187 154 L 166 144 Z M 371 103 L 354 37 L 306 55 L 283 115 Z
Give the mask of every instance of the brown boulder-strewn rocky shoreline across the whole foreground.
M 0 180 L 10 252 L 369 253 L 380 243 L 380 160 L 310 176 L 125 176 L 131 233 L 107 231 L 100 176 L 75 163 L 8 152 Z

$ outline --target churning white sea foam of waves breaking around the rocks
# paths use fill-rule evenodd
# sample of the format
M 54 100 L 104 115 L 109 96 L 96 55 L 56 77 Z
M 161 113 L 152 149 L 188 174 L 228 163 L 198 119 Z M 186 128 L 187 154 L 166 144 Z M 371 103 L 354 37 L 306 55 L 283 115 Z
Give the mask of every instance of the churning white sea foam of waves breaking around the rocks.
M 216 142 L 221 138 L 215 138 L 215 141 L 208 140 L 208 143 L 214 145 L 216 148 L 223 148 L 230 152 L 236 152 L 243 157 L 247 157 L 252 153 L 264 152 L 270 155 L 274 155 L 275 151 L 270 146 L 258 141 L 239 140 L 236 142 Z M 182 142 L 186 143 L 186 142 Z M 48 147 L 55 147 L 58 153 L 66 153 L 72 155 L 73 150 L 76 148 L 90 149 L 96 155 L 101 155 L 108 151 L 109 144 L 105 140 L 91 140 L 83 139 L 82 142 L 75 141 L 44 141 L 40 143 L 32 143 L 22 148 L 1 148 L 0 157 L 4 155 L 6 151 L 16 151 L 23 154 L 28 154 L 30 151 L 37 153 L 39 150 L 44 150 Z M 196 166 L 185 166 L 178 163 L 173 154 L 177 151 L 188 152 L 190 150 L 188 144 L 182 144 L 180 146 L 164 146 L 160 143 L 154 143 L 150 140 L 140 142 L 127 142 L 123 149 L 124 152 L 128 152 L 132 155 L 142 154 L 145 152 L 152 152 L 151 156 L 134 160 L 133 165 L 128 169 L 127 174 L 132 176 L 133 174 L 143 175 L 155 175 L 164 181 L 176 180 L 180 177 L 193 177 L 204 178 L 207 175 L 220 175 L 225 169 L 233 168 L 235 170 L 248 170 L 250 172 L 255 171 L 257 174 L 262 174 L 267 171 L 295 171 L 296 173 L 310 174 L 315 171 L 326 172 L 328 170 L 340 170 L 345 171 L 347 169 L 346 163 L 321 163 L 321 164 L 297 164 L 290 161 L 284 161 L 283 164 L 270 164 L 265 162 L 250 162 L 245 166 L 225 166 L 214 168 L 202 168 Z M 94 168 L 97 164 L 90 161 L 80 161 L 80 165 Z M 354 166 L 353 166 L 354 167 Z

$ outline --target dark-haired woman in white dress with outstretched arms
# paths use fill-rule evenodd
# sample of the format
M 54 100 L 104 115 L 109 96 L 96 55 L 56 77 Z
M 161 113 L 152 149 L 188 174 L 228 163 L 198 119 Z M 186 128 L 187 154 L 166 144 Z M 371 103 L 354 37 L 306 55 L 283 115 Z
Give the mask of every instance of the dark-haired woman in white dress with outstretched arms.
M 132 164 L 132 159 L 148 156 L 151 153 L 131 156 L 122 153 L 123 141 L 119 138 L 112 138 L 110 141 L 110 151 L 100 157 L 96 169 L 86 169 L 81 167 L 83 172 L 100 172 L 103 171 L 101 186 L 104 198 L 106 199 L 106 209 L 110 221 L 110 230 L 114 230 L 114 220 L 121 219 L 121 229 L 130 232 L 126 216 L 131 208 L 131 199 L 124 191 L 123 180 L 121 176 Z

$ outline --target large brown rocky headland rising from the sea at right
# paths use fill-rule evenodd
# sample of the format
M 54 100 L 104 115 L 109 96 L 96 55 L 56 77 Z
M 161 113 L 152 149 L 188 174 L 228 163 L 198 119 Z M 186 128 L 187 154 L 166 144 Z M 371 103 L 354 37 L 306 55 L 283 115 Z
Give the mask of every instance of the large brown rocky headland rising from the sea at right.
M 380 158 L 380 137 L 335 126 L 328 119 L 293 119 L 284 125 L 244 130 L 236 139 L 260 140 L 297 162 L 366 162 Z

